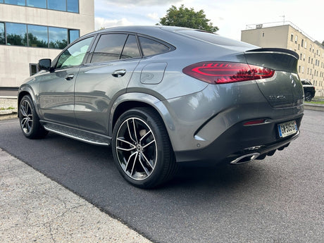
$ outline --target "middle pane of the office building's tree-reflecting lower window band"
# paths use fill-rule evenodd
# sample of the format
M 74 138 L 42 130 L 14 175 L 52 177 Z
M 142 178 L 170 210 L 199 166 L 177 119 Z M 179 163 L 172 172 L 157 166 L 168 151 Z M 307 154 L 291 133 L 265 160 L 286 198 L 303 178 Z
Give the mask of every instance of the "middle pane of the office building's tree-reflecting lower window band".
M 48 47 L 49 37 L 47 36 L 47 27 L 40 25 L 28 25 L 28 46 Z

